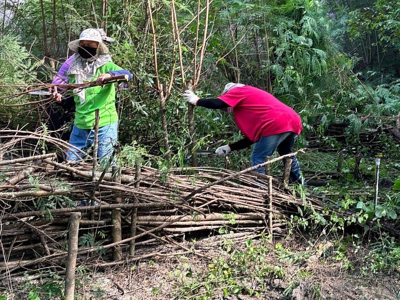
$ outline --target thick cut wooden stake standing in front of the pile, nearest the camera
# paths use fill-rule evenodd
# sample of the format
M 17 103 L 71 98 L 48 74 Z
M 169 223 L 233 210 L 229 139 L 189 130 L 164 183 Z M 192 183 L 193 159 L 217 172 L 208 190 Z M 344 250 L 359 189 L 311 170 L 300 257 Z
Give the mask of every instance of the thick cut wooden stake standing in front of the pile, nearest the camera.
M 78 253 L 78 232 L 80 212 L 71 212 L 68 233 L 68 256 L 65 269 L 65 291 L 64 299 L 73 300 L 75 290 L 75 266 Z

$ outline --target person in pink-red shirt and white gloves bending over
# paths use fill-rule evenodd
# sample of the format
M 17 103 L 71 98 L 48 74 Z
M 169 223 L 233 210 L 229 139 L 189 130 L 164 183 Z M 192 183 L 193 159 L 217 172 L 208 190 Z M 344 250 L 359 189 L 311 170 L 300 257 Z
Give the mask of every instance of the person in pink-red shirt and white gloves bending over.
M 291 153 L 293 143 L 302 130 L 300 116 L 289 106 L 280 102 L 266 91 L 240 83 L 228 83 L 217 98 L 199 98 L 186 90 L 183 98 L 196 106 L 210 109 L 232 109 L 234 121 L 244 138 L 215 150 L 217 155 L 227 155 L 230 151 L 244 149 L 254 144 L 251 165 L 265 161 L 277 150 L 280 155 Z M 257 172 L 264 173 L 259 167 Z M 290 182 L 302 183 L 300 164 L 292 157 Z

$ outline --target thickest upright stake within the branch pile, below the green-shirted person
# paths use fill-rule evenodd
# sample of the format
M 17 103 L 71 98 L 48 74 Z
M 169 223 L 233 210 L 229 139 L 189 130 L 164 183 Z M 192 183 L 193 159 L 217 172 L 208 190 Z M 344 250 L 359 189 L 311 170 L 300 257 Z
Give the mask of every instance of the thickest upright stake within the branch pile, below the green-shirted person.
M 112 167 L 112 178 L 113 182 L 115 183 L 121 183 L 121 169 L 118 166 L 113 166 Z M 119 204 L 121 203 L 121 197 L 116 196 L 115 197 L 115 203 Z M 112 237 L 112 242 L 118 242 L 121 240 L 121 210 L 120 209 L 112 209 L 111 210 L 111 237 Z M 112 251 L 112 259 L 113 260 L 119 260 L 122 259 L 122 250 L 120 245 L 115 245 L 113 247 Z

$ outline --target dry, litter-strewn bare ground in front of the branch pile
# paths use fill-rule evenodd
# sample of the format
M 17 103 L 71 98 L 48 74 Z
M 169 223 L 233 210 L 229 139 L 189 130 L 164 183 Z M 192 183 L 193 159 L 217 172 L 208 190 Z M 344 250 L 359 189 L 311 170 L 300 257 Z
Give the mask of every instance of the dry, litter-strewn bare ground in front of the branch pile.
M 254 240 L 254 245 L 259 241 Z M 274 241 L 273 243 L 275 243 Z M 284 268 L 283 278 L 265 279 L 266 290 L 250 296 L 248 293 L 228 294 L 223 296 L 222 288 L 213 291 L 206 299 L 326 299 L 326 300 L 377 300 L 400 299 L 400 277 L 398 272 L 391 274 L 360 275 L 359 265 L 354 270 L 344 270 L 343 261 L 335 261 L 326 257 L 316 248 L 296 243 L 295 240 L 281 240 L 284 246 L 289 246 L 292 253 L 302 255 L 308 251 L 306 259 L 296 263 L 282 261 L 282 257 L 271 251 L 268 263 Z M 271 243 L 271 248 L 273 248 Z M 326 244 L 326 242 L 325 242 Z M 201 253 L 201 256 L 184 253 L 181 248 L 172 245 L 160 245 L 156 250 L 161 256 L 155 256 L 136 262 L 126 262 L 123 265 L 93 269 L 91 274 L 81 277 L 81 285 L 77 288 L 79 299 L 201 299 L 201 291 L 190 292 L 190 280 L 207 273 L 210 259 L 228 258 L 232 251 L 226 253 L 217 243 L 197 241 L 186 246 Z M 329 242 L 327 242 L 329 246 Z M 244 241 L 236 242 L 235 250 L 245 248 Z M 320 249 L 321 247 L 319 247 Z M 357 251 L 352 259 L 361 261 L 367 249 Z M 233 250 L 234 251 L 234 250 Z M 148 249 L 138 253 L 148 253 Z M 179 254 L 180 252 L 180 254 Z M 174 254 L 178 253 L 178 254 Z M 328 250 L 325 251 L 328 255 Z M 359 257 L 357 257 L 359 255 Z M 251 267 L 251 266 L 248 266 Z M 190 273 L 190 277 L 185 276 Z M 298 274 L 301 274 L 300 276 Z M 299 279 L 301 278 L 302 279 Z M 192 282 L 191 282 L 192 283 Z M 286 292 L 288 287 L 291 290 Z M 205 299 L 205 298 L 204 298 Z

